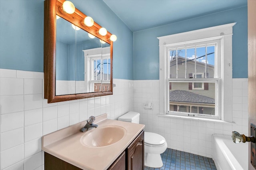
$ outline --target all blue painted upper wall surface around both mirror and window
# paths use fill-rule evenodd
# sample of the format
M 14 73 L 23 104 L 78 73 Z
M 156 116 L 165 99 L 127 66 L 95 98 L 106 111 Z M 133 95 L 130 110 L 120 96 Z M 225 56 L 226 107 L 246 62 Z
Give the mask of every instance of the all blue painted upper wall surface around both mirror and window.
M 237 22 L 233 35 L 233 78 L 248 77 L 247 7 L 131 32 L 101 0 L 72 0 L 84 14 L 116 34 L 113 77 L 159 79 L 159 36 Z M 0 0 L 0 68 L 43 72 L 44 0 Z

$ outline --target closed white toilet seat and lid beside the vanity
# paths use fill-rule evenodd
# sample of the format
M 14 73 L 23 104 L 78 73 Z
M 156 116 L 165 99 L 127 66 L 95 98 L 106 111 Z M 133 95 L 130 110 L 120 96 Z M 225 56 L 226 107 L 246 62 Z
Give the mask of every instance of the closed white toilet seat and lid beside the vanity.
M 164 146 L 166 143 L 165 138 L 160 134 L 152 132 L 144 132 L 144 144 L 153 147 Z

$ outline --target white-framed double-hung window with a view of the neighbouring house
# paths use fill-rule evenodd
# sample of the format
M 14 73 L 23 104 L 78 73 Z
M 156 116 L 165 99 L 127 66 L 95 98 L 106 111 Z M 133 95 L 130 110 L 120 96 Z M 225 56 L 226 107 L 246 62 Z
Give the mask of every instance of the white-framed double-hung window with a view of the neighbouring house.
M 232 121 L 234 24 L 158 38 L 160 114 Z

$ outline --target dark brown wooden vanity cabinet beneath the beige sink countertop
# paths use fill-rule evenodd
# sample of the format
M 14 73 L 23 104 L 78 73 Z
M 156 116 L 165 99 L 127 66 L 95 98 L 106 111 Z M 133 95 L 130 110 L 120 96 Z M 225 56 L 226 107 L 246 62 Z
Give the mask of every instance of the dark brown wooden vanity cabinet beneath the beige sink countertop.
M 82 170 L 47 152 L 44 152 L 44 169 Z M 144 170 L 144 130 L 140 132 L 108 170 Z

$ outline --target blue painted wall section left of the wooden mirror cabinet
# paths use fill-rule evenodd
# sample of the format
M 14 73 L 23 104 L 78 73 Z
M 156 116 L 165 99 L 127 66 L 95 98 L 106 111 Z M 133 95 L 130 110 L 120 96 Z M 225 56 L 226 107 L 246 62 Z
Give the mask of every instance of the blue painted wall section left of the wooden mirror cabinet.
M 0 0 L 0 68 L 44 69 L 44 1 Z

